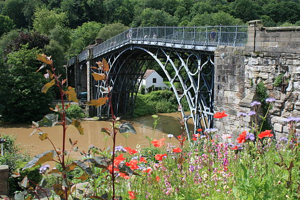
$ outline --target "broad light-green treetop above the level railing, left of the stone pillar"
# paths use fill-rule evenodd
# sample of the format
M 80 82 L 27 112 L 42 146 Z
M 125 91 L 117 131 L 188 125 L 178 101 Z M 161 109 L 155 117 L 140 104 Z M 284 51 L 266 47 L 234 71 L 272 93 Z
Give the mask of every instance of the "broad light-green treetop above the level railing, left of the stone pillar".
M 243 21 L 236 19 L 233 16 L 225 12 L 217 13 L 203 13 L 196 15 L 192 21 L 189 23 L 189 26 L 199 26 L 199 25 L 243 25 Z

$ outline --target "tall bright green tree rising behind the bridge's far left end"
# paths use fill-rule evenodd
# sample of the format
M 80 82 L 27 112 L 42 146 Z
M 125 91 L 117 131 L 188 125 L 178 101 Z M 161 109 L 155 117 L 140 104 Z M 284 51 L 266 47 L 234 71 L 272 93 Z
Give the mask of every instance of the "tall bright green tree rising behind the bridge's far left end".
M 97 22 L 87 22 L 73 30 L 71 33 L 70 54 L 76 55 L 88 45 L 94 44 L 102 26 Z

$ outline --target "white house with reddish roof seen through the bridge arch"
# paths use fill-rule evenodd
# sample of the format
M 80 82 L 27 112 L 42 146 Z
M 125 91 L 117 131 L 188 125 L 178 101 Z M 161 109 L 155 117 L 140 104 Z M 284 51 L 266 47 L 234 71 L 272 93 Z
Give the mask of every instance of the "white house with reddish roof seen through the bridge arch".
M 140 78 L 139 78 L 140 81 Z M 141 89 L 142 85 L 146 87 L 146 89 L 150 88 L 152 85 L 154 86 L 154 90 L 164 90 L 169 88 L 164 82 L 163 78 L 155 72 L 155 70 L 147 70 L 145 75 L 142 78 L 139 89 Z

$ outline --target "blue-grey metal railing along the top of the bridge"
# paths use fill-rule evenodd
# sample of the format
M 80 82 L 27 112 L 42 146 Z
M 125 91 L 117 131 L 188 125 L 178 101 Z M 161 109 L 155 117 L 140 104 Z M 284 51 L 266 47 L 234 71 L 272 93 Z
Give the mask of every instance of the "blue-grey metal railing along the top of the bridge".
M 247 43 L 247 25 L 215 25 L 195 27 L 141 27 L 130 28 L 123 33 L 101 43 L 93 48 L 93 55 L 105 53 L 126 43 L 157 44 L 156 42 L 180 44 L 184 47 L 196 45 L 218 47 L 238 46 Z M 192 45 L 192 46 L 191 46 Z M 88 57 L 88 51 L 78 55 L 79 62 Z M 70 60 L 71 61 L 71 60 Z M 72 60 L 73 61 L 73 60 Z M 69 62 L 69 63 L 72 63 Z

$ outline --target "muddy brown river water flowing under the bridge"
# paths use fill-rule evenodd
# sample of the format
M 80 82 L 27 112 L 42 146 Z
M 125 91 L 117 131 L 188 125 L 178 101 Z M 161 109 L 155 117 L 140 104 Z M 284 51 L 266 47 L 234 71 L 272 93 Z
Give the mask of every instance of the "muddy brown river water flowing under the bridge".
M 140 145 L 141 147 L 149 146 L 148 140 L 146 140 L 146 135 L 150 138 L 152 135 L 156 139 L 161 139 L 163 137 L 166 138 L 166 142 L 170 142 L 169 138 L 167 138 L 167 134 L 173 134 L 174 136 L 180 135 L 182 129 L 181 125 L 177 122 L 177 117 L 180 117 L 179 113 L 163 113 L 157 114 L 160 120 L 156 125 L 155 130 L 153 130 L 153 122 L 154 119 L 151 116 L 144 116 L 134 119 L 125 120 L 126 122 L 130 122 L 137 134 L 130 134 L 127 138 L 127 145 L 125 137 L 121 134 L 117 136 L 116 145 L 122 145 L 124 147 L 128 146 L 131 148 L 135 148 L 136 145 Z M 79 150 L 87 150 L 90 145 L 94 145 L 100 149 L 105 148 L 105 142 L 103 138 L 105 135 L 100 132 L 102 127 L 109 127 L 110 122 L 107 121 L 82 121 L 82 127 L 84 129 L 84 135 L 80 135 L 77 129 L 70 125 L 67 129 L 67 137 L 66 137 L 66 148 L 70 150 L 71 145 L 69 143 L 69 138 L 73 141 L 78 140 L 77 146 Z M 192 123 L 192 120 L 190 120 Z M 0 133 L 1 134 L 11 134 L 17 137 L 17 144 L 21 145 L 23 151 L 27 150 L 31 156 L 42 153 L 46 150 L 53 150 L 50 142 L 48 140 L 41 141 L 38 138 L 38 135 L 32 135 L 29 137 L 29 134 L 32 132 L 32 128 L 30 124 L 0 124 Z M 194 128 L 193 124 L 189 124 L 190 130 Z M 48 133 L 48 137 L 54 143 L 56 148 L 62 148 L 62 126 L 53 126 L 53 127 L 42 127 L 44 132 Z M 171 138 L 171 142 L 174 145 L 177 145 L 177 140 L 175 137 Z M 109 138 L 106 141 L 106 147 L 112 146 L 112 140 Z M 80 158 L 79 152 L 72 152 L 71 157 Z

